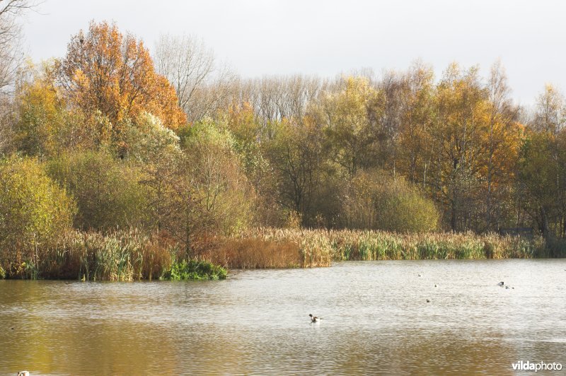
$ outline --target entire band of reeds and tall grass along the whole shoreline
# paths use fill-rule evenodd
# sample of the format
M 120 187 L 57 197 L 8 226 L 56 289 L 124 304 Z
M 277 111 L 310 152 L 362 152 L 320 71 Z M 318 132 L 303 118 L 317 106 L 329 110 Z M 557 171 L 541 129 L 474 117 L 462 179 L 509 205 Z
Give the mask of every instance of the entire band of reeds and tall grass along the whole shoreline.
M 33 252 L 0 252 L 0 278 L 209 279 L 226 276 L 214 264 L 262 269 L 330 266 L 341 260 L 566 257 L 564 240 L 474 233 L 254 228 L 228 239 L 213 237 L 209 243 L 190 261 L 175 242 L 157 234 L 74 230 Z

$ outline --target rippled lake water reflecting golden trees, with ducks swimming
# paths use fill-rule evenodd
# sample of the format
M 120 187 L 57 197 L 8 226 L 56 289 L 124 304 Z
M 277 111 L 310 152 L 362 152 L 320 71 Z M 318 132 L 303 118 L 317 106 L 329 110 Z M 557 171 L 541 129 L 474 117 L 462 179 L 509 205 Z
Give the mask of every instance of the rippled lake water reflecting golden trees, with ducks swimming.
M 0 374 L 566 369 L 565 269 L 566 259 L 386 261 L 226 281 L 0 281 Z

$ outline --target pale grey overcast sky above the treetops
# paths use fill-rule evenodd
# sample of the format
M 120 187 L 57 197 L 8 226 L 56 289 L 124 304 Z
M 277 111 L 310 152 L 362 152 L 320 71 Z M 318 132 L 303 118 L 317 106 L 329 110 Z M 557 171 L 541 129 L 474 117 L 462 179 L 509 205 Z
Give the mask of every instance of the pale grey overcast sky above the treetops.
M 90 20 L 115 20 L 152 49 L 161 33 L 202 38 L 242 76 L 318 74 L 369 67 L 432 64 L 437 77 L 451 61 L 498 58 L 513 96 L 531 104 L 545 83 L 566 89 L 564 1 L 329 0 L 45 0 L 25 20 L 34 60 L 64 56 Z

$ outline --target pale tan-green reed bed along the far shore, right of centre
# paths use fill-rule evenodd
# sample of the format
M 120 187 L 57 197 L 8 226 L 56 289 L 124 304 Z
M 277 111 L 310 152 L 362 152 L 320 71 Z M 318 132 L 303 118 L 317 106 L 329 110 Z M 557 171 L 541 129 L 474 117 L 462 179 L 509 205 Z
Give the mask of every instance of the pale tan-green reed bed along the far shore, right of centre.
M 330 266 L 330 262 L 342 260 L 508 259 L 566 256 L 565 247 L 558 251 L 550 249 L 542 237 L 501 236 L 495 233 L 401 234 L 369 230 L 255 228 L 236 235 L 234 239 L 299 245 L 299 259 L 303 267 Z M 261 252 L 261 249 L 257 248 L 255 247 L 254 252 Z

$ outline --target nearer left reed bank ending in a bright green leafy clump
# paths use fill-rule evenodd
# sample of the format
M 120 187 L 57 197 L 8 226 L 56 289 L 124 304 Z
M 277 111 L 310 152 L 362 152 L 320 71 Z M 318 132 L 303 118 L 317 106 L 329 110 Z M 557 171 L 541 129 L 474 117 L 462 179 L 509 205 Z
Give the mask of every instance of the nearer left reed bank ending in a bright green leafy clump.
M 69 231 L 50 246 L 0 252 L 0 277 L 136 281 L 223 279 L 226 270 L 187 259 L 173 243 L 138 230 Z

